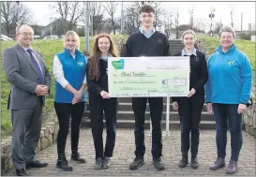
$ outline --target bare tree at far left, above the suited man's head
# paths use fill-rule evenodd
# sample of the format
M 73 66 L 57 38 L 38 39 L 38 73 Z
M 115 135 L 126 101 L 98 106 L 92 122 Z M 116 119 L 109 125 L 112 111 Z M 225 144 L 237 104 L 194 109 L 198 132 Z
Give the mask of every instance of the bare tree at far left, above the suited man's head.
M 21 24 L 29 23 L 32 20 L 33 15 L 28 7 L 23 3 L 19 3 L 19 6 L 14 1 L 1 2 L 2 19 L 1 22 L 7 31 L 9 36 L 10 27 L 16 26 L 17 22 Z M 19 14 L 18 14 L 19 13 Z

